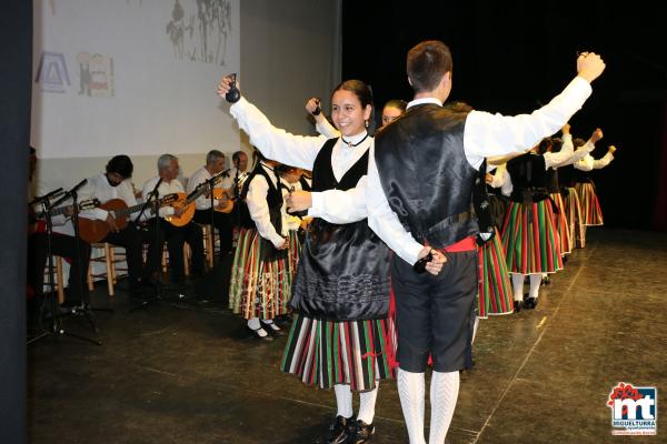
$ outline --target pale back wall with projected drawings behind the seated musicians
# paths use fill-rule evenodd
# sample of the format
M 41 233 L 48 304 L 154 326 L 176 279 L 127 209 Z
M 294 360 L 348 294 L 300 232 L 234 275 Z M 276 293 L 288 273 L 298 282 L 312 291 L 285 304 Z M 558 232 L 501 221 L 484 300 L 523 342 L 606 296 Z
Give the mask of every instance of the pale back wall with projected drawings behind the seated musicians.
M 212 148 L 248 150 L 215 93 L 229 72 L 239 72 L 243 94 L 276 125 L 312 131 L 306 99 L 328 102 L 340 80 L 340 0 L 212 1 L 229 4 L 225 57 L 217 50 L 222 27 L 208 27 L 205 57 L 197 1 L 178 0 L 183 19 L 175 21 L 176 3 L 34 0 L 32 145 L 40 189 L 71 186 L 118 153 L 132 158 L 139 188 L 156 174 L 161 153 L 178 155 L 189 175 Z M 167 33 L 170 22 L 176 33 L 186 29 L 182 46 Z M 86 53 L 101 54 L 89 64 L 90 89 L 81 87 Z

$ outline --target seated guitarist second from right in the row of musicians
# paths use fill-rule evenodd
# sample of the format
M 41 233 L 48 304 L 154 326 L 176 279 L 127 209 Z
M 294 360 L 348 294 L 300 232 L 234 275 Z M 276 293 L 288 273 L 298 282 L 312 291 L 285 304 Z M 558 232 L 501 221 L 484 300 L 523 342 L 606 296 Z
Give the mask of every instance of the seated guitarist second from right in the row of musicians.
M 198 185 L 205 183 L 210 180 L 216 174 L 222 172 L 225 168 L 225 154 L 222 154 L 218 150 L 211 150 L 206 155 L 206 165 L 201 167 L 197 170 L 188 181 L 188 194 L 192 193 Z M 231 236 L 232 236 L 232 220 L 230 215 L 230 211 L 232 209 L 233 203 L 229 200 L 229 193 L 233 196 L 232 190 L 225 190 L 222 186 L 222 180 L 229 179 L 229 171 L 226 171 L 220 176 L 220 180 L 216 184 L 216 189 L 221 190 L 222 196 L 221 199 L 213 199 L 213 206 L 218 210 L 222 211 L 213 211 L 211 209 L 211 199 L 210 193 L 205 193 L 197 198 L 196 211 L 195 211 L 195 222 L 201 224 L 211 224 L 211 213 L 212 213 L 212 223 L 216 229 L 218 229 L 219 239 L 220 239 L 220 259 L 225 259 L 231 252 Z

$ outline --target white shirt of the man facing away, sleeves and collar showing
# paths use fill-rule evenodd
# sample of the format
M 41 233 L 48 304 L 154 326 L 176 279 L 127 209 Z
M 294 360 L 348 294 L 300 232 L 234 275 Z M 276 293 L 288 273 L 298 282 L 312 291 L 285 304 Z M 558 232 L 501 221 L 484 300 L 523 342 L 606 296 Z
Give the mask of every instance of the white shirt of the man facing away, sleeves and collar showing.
M 577 112 L 591 93 L 590 84 L 577 77 L 547 105 L 531 114 L 505 117 L 471 111 L 464 130 L 464 151 L 468 163 L 479 169 L 485 157 L 524 152 L 557 132 Z M 414 100 L 408 108 L 421 103 L 441 104 L 435 98 Z M 419 180 L 419 178 L 415 178 Z M 417 262 L 422 245 L 408 233 L 389 206 L 382 190 L 375 149 L 368 163 L 368 224 L 406 262 Z

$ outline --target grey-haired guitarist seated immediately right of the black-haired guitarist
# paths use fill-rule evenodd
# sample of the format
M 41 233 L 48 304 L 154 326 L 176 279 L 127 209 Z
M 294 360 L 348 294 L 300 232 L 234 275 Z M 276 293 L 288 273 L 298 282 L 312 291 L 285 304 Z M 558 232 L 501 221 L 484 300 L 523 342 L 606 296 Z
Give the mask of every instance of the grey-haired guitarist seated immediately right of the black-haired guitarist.
M 141 192 L 143 200 L 146 201 L 149 198 L 149 194 L 156 185 L 158 185 L 158 198 L 163 198 L 168 194 L 172 193 L 181 193 L 182 198 L 186 196 L 183 185 L 180 181 L 177 180 L 178 176 L 178 158 L 171 154 L 162 154 L 158 159 L 158 175 L 149 179 L 143 184 L 143 190 Z M 192 202 L 191 205 L 195 205 Z M 160 229 L 165 233 L 165 239 L 167 240 L 167 249 L 169 250 L 169 263 L 170 263 L 170 272 L 171 272 L 171 282 L 176 285 L 182 285 L 185 283 L 183 276 L 183 244 L 188 242 L 190 244 L 190 249 L 192 252 L 192 266 L 191 274 L 193 276 L 199 276 L 203 273 L 203 241 L 201 228 L 192 221 L 187 223 L 186 219 L 179 219 L 181 216 L 187 216 L 187 208 L 180 206 L 179 202 L 176 202 L 170 206 L 162 206 L 159 211 L 160 216 Z M 173 218 L 177 218 L 179 224 L 182 226 L 177 226 L 169 220 L 173 221 Z M 166 220 L 167 219 L 167 220 Z M 148 222 L 149 225 L 152 225 L 151 221 Z M 185 223 L 185 224 L 183 224 Z M 161 251 L 161 245 L 159 245 L 159 250 Z M 149 251 L 149 255 L 151 251 Z M 161 255 L 159 256 L 161 258 Z

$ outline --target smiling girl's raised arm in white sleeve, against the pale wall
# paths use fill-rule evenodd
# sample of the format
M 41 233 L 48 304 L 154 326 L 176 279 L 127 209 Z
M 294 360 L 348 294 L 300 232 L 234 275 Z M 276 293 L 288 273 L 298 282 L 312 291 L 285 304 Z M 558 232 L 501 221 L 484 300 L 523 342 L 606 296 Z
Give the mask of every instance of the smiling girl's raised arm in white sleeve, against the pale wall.
M 229 77 L 220 80 L 218 95 L 225 98 L 230 82 Z M 229 112 L 248 134 L 250 143 L 265 157 L 288 165 L 311 170 L 317 153 L 327 141 L 322 135 L 295 135 L 273 127 L 269 119 L 243 97 L 230 107 Z

